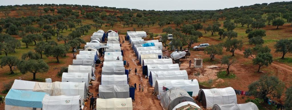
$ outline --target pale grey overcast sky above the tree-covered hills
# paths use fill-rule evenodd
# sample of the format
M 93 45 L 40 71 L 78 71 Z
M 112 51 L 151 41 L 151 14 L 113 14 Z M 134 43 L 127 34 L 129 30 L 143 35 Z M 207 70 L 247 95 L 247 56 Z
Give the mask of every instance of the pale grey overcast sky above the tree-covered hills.
M 217 10 L 291 0 L 0 0 L 0 5 L 78 4 L 145 10 Z

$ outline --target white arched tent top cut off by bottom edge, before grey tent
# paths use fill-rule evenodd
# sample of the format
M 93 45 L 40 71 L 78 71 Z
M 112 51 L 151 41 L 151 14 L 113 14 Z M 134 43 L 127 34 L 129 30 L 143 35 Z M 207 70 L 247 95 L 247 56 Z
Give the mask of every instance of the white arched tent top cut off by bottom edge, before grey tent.
M 172 110 L 202 110 L 202 109 L 196 103 L 186 101 L 176 105 Z

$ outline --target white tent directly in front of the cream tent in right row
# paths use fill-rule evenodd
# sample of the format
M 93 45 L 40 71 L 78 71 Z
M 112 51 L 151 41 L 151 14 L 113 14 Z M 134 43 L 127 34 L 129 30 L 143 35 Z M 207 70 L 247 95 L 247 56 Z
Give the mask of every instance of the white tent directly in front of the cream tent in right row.
M 152 64 L 173 64 L 172 59 L 143 59 L 142 66 L 152 65 Z

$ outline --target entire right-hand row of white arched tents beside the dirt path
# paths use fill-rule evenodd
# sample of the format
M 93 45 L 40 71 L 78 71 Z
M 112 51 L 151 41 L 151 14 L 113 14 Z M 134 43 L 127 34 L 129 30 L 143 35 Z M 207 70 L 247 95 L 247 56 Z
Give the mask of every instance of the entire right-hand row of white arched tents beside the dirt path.
M 161 99 L 164 110 L 186 109 L 187 107 L 201 109 L 192 97 L 198 96 L 198 101 L 204 108 L 213 110 L 231 110 L 234 106 L 245 106 L 254 109 L 234 110 L 258 110 L 255 104 L 237 104 L 237 97 L 232 87 L 222 89 L 199 89 L 196 79 L 189 80 L 187 71 L 180 70 L 172 59 L 161 59 L 162 47 L 159 48 L 158 40 L 144 41 L 141 37 L 127 36 L 132 44 L 133 51 L 142 65 L 142 73 L 146 75 L 154 92 Z M 184 53 L 176 52 L 174 59 L 179 59 Z M 183 102 L 183 103 L 182 103 Z M 233 107 L 231 107 L 231 105 Z M 230 107 L 228 107 L 230 106 Z M 183 108 L 181 108 L 183 107 Z M 240 107 L 239 107 L 240 108 Z M 233 109 L 232 109 L 233 110 Z

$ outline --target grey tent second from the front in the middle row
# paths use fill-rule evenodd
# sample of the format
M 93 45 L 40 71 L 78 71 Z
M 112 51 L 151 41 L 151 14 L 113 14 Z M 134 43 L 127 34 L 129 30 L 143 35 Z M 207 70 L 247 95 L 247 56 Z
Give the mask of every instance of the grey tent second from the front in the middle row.
M 99 85 L 98 94 L 102 99 L 129 98 L 129 85 Z

